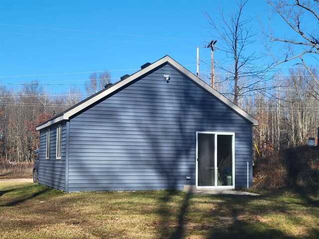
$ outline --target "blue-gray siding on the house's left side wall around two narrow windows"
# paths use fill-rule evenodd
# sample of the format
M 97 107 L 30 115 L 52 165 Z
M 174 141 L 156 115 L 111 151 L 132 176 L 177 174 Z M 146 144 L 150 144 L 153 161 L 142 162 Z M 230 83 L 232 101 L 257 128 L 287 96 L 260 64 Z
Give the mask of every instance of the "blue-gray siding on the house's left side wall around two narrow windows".
M 65 190 L 65 151 L 66 151 L 66 123 L 62 123 L 61 135 L 61 159 L 56 159 L 56 127 L 50 129 L 50 158 L 45 159 L 46 131 L 40 131 L 40 152 L 39 152 L 39 183 Z

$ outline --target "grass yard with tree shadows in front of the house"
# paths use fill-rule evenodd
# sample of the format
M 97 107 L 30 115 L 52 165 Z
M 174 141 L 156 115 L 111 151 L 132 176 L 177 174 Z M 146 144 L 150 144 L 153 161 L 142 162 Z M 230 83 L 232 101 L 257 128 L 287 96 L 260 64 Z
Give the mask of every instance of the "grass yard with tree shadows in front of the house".
M 319 188 L 259 193 L 66 194 L 33 183 L 0 182 L 0 238 L 319 238 Z

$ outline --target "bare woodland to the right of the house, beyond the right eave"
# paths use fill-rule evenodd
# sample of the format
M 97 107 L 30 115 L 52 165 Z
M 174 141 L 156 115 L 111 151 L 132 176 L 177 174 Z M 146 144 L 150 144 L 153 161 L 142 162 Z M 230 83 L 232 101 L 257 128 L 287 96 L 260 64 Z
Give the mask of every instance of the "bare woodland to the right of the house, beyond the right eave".
M 308 71 L 300 69 L 291 70 L 289 76 L 276 81 L 281 81 L 279 87 L 273 88 L 267 97 L 255 95 L 245 107 L 259 121 L 259 126 L 254 127 L 253 141 L 261 156 L 305 145 L 309 137 L 317 141 L 319 85 Z

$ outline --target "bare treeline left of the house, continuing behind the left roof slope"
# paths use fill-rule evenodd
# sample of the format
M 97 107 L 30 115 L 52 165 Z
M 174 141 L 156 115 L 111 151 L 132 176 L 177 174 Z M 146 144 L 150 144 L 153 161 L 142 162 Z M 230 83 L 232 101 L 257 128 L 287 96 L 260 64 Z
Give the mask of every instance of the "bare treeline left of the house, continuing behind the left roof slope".
M 109 82 L 108 72 L 93 73 L 85 83 L 85 94 L 78 87 L 52 94 L 37 81 L 23 84 L 19 89 L 1 86 L 0 162 L 32 161 L 39 146 L 36 125 L 102 90 Z

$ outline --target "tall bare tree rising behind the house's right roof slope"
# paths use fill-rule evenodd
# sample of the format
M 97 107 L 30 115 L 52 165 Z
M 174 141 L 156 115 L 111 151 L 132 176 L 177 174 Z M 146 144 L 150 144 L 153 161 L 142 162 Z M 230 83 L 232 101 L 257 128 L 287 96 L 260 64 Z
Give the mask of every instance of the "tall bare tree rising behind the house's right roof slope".
M 229 75 L 225 81 L 231 82 L 233 102 L 236 105 L 247 94 L 267 94 L 274 87 L 267 84 L 272 79 L 271 74 L 268 74 L 271 66 L 257 66 L 256 61 L 263 55 L 249 49 L 256 41 L 256 33 L 251 30 L 253 18 L 243 19 L 247 2 L 248 0 L 238 0 L 237 9 L 227 18 L 222 11 L 219 14 L 220 19 L 213 19 L 206 13 L 214 39 L 218 39 L 217 49 L 225 53 L 225 58 L 216 65 Z

